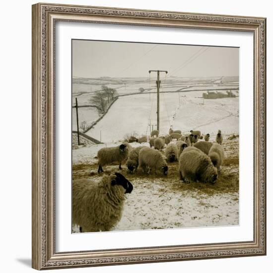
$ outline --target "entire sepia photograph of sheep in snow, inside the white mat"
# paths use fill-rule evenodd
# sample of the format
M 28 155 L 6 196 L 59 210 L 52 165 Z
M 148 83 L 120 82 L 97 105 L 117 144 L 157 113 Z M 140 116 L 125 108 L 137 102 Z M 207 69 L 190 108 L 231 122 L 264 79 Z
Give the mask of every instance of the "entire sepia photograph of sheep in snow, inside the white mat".
M 239 225 L 240 49 L 71 43 L 72 232 Z

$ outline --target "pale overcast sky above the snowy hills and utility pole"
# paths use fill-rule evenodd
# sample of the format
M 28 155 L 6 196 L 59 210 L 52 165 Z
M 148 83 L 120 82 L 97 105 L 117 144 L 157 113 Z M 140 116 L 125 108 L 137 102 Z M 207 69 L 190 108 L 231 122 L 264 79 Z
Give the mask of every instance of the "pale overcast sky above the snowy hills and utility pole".
M 238 76 L 239 48 L 72 41 L 72 76 L 148 77 L 150 69 L 168 70 L 168 76 Z

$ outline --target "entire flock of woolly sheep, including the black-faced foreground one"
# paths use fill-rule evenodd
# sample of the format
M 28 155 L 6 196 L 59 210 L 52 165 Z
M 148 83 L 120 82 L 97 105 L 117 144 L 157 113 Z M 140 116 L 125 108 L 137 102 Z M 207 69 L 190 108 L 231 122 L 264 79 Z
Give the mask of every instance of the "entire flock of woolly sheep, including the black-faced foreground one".
M 98 173 L 103 172 L 102 167 L 114 162 L 118 162 L 119 169 L 122 169 L 121 164 L 126 160 L 130 173 L 137 173 L 139 167 L 145 174 L 153 171 L 156 175 L 167 175 L 168 162 L 178 161 L 180 180 L 215 183 L 224 160 L 223 137 L 219 130 L 214 143 L 209 138 L 209 134 L 203 136 L 200 131 L 192 130 L 182 135 L 180 130 L 170 129 L 168 135 L 159 136 L 155 130 L 149 139 L 150 147 L 132 148 L 128 142 L 147 142 L 146 136 L 132 137 L 116 147 L 98 151 Z M 80 232 L 111 230 L 121 219 L 125 194 L 132 191 L 133 185 L 119 172 L 103 175 L 99 183 L 89 179 L 74 180 L 73 224 L 79 225 Z

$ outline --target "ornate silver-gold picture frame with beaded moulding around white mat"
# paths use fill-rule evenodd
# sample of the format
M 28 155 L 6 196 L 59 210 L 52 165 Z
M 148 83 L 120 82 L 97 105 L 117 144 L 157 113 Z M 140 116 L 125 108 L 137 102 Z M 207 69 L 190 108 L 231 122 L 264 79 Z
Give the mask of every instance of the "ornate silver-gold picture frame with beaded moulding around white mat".
M 58 21 L 249 32 L 254 37 L 253 240 L 56 252 Z M 266 18 L 37 3 L 32 6 L 32 267 L 37 270 L 266 255 Z

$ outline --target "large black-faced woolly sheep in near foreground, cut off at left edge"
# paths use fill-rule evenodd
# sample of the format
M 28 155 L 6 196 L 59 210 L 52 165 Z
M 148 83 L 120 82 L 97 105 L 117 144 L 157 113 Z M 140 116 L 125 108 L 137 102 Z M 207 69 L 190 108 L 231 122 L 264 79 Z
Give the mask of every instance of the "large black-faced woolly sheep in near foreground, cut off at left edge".
M 99 182 L 72 182 L 72 223 L 80 232 L 109 231 L 121 220 L 125 194 L 133 185 L 120 173 L 103 175 Z

